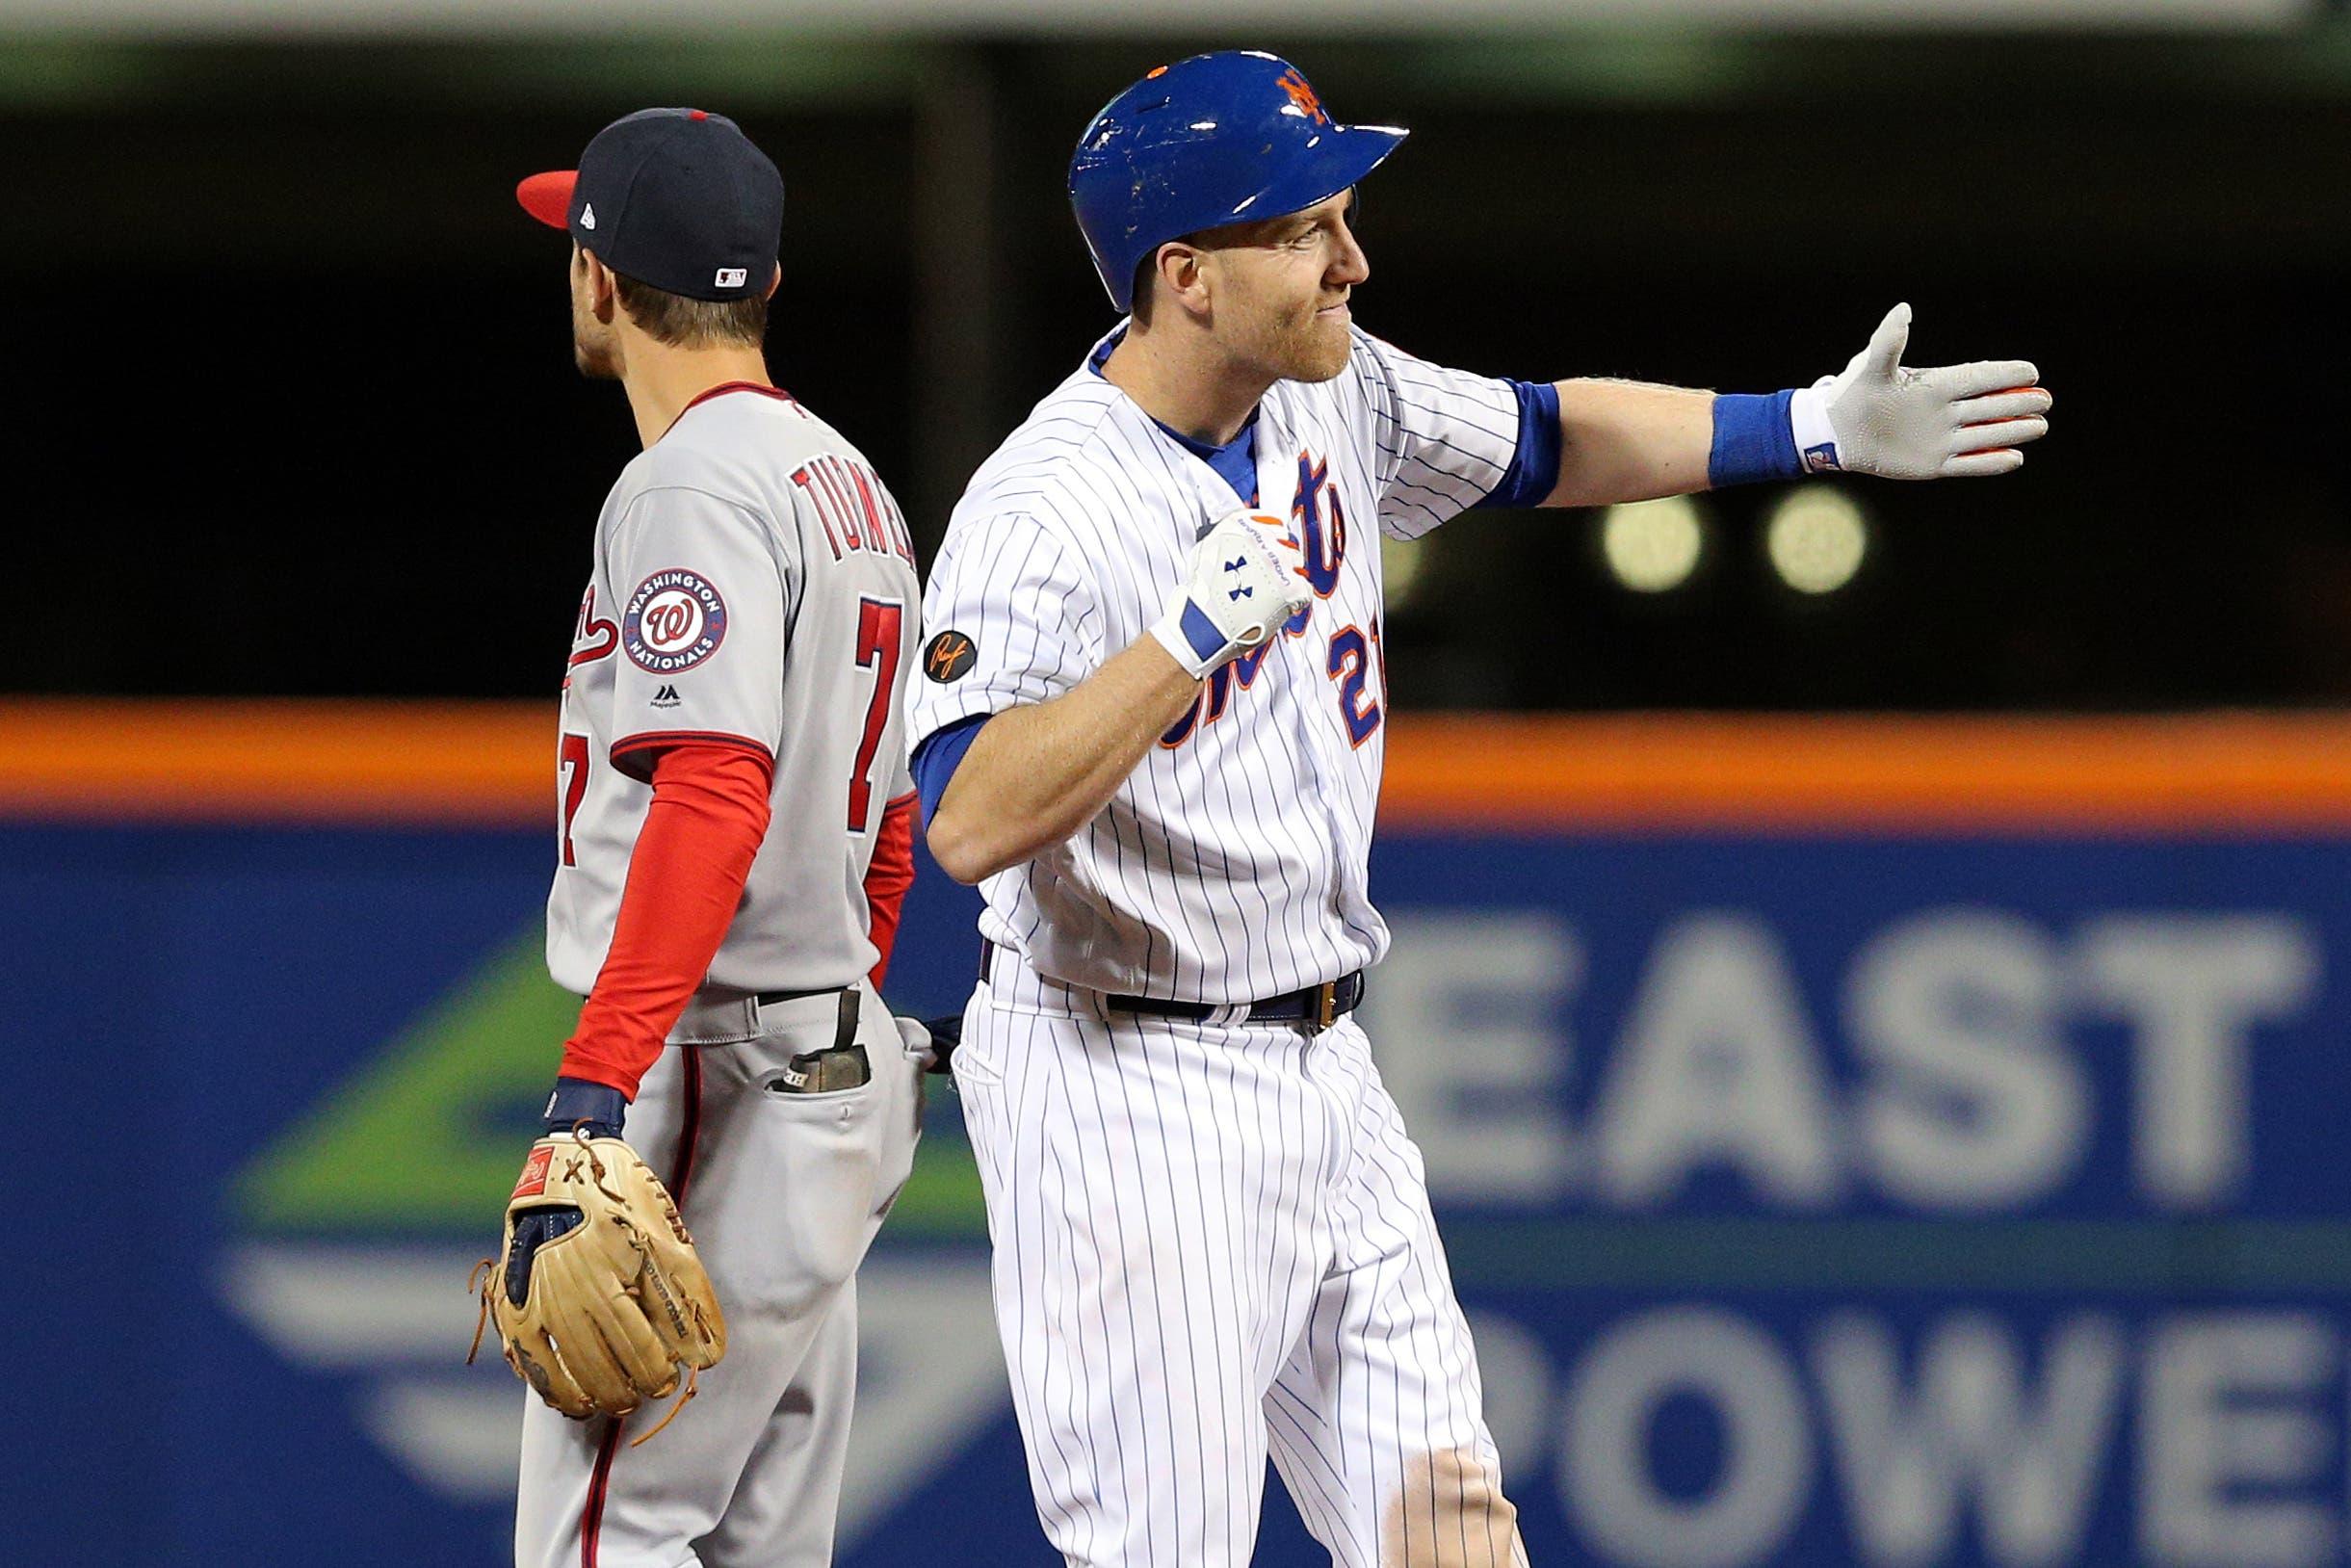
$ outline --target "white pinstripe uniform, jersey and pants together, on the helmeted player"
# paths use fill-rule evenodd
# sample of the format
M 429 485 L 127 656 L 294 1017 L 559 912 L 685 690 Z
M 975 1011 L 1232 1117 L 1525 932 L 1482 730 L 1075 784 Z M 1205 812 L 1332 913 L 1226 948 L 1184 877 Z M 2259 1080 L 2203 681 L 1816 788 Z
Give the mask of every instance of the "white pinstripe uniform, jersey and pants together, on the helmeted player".
M 955 1077 L 1037 1512 L 1070 1563 L 1246 1563 L 1267 1460 L 1335 1563 L 1523 1563 L 1420 1154 L 1364 1032 L 1100 1009 L 1237 1009 L 1387 952 L 1361 524 L 1425 534 L 1500 482 L 1516 440 L 1507 383 L 1364 334 L 1333 381 L 1274 386 L 1258 505 L 1300 536 L 1307 618 L 1211 682 L 1084 832 L 983 889 L 1006 952 Z M 1230 510 L 1232 484 L 1124 393 L 1070 376 L 947 527 L 924 621 L 978 656 L 912 684 L 910 733 L 1077 686 L 1145 635 Z

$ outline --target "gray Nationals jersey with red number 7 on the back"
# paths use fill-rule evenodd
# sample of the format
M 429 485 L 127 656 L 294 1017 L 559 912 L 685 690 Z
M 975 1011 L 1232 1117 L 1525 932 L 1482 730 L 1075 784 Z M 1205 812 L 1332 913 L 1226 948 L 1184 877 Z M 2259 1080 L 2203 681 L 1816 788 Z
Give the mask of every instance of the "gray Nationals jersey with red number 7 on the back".
M 654 755 L 773 757 L 773 825 L 710 985 L 853 985 L 875 964 L 865 867 L 912 785 L 900 691 L 922 590 L 872 465 L 776 388 L 705 393 L 623 473 L 595 531 L 562 701 L 548 969 L 585 994 L 611 947 Z

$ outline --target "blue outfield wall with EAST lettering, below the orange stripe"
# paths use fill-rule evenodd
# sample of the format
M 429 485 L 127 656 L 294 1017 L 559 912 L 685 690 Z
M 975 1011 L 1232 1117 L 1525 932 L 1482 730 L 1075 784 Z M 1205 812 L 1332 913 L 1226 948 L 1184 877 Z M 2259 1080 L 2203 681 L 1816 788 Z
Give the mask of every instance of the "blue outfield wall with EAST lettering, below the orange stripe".
M 545 842 L 0 825 L 24 1563 L 498 1563 L 468 1267 Z M 2351 842 L 1394 830 L 1366 1018 L 1538 1563 L 2346 1554 Z M 962 1001 L 926 877 L 891 999 Z M 851 1568 L 1051 1561 L 955 1098 L 870 1262 Z M 1270 1481 L 1262 1563 L 1324 1556 Z

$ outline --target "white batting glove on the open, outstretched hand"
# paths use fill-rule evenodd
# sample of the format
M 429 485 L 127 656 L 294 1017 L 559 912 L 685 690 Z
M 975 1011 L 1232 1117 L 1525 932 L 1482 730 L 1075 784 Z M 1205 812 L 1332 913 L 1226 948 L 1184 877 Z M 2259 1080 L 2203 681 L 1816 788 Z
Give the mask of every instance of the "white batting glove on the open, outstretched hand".
M 1789 423 L 1813 473 L 1843 468 L 1883 480 L 1980 480 L 2024 463 L 2050 433 L 2050 395 L 2029 360 L 1911 369 L 1909 306 L 1895 306 L 1841 376 L 1796 393 Z

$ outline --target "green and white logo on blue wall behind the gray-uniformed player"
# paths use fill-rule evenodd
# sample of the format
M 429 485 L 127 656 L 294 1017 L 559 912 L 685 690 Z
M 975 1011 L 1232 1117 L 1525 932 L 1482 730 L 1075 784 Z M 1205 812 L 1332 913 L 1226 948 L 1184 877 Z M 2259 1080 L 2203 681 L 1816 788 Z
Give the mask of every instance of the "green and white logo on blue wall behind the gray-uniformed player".
M 576 1018 L 578 997 L 548 980 L 534 929 L 357 1058 L 230 1187 L 230 1309 L 296 1368 L 355 1380 L 357 1425 L 451 1500 L 513 1495 L 524 1394 L 496 1354 L 463 1363 L 465 1276 L 496 1251 Z M 886 1375 L 893 1347 L 917 1352 L 940 1321 L 990 1321 L 985 1241 L 955 1095 L 933 1093 L 915 1175 L 863 1272 L 863 1354 L 879 1375 L 860 1392 L 844 1537 L 1002 1410 L 994 1356 L 971 1356 L 947 1387 Z

